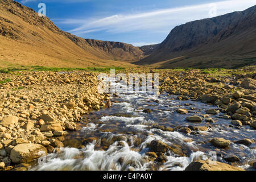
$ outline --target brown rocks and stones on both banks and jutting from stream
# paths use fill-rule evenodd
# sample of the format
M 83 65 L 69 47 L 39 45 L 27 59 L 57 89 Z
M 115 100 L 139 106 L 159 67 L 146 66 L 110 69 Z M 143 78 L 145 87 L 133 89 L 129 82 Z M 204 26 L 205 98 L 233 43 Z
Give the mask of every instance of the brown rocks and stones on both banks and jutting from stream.
M 230 119 L 230 125 L 243 127 L 255 126 L 256 97 L 254 74 L 211 77 L 201 73 L 200 70 L 172 71 L 172 70 L 142 70 L 126 69 L 125 73 L 159 73 L 160 92 L 177 95 L 179 100 L 195 100 L 218 106 L 210 109 L 205 114 L 196 114 L 187 117 L 190 123 L 202 122 L 203 119 L 214 123 L 210 115 L 219 112 L 225 113 L 223 118 Z M 0 164 L 5 170 L 27 170 L 42 155 L 58 152 L 60 147 L 72 146 L 80 148 L 81 143 L 76 139 L 65 140 L 71 131 L 80 129 L 80 123 L 86 125 L 82 115 L 90 110 L 99 110 L 110 107 L 110 95 L 97 92 L 98 73 L 90 72 L 19 72 L 19 74 L 0 75 Z M 246 83 L 243 84 L 244 80 Z M 240 86 L 235 86 L 236 84 Z M 238 90 L 239 91 L 238 91 Z M 144 111 L 143 111 L 144 112 Z M 145 111 L 151 113 L 152 111 Z M 187 114 L 188 111 L 179 109 L 177 113 Z M 208 127 L 175 127 L 168 129 L 152 125 L 163 131 L 179 131 L 189 134 L 195 130 L 205 131 Z M 112 129 L 102 132 L 111 132 Z M 120 138 L 120 137 L 119 137 Z M 86 138 L 86 141 L 98 140 Z M 114 141 L 122 140 L 113 138 Z M 113 142 L 102 139 L 102 144 L 107 149 Z M 139 142 L 139 141 L 138 141 Z M 213 138 L 215 147 L 228 147 L 230 143 L 250 145 L 254 140 L 243 139 L 239 141 Z M 154 140 L 149 145 L 150 152 L 146 155 L 157 163 L 166 161 L 165 152 L 171 150 L 177 155 L 186 156 L 178 146 Z M 161 154 L 161 155 L 159 155 Z M 228 160 L 228 159 L 227 159 Z M 198 162 L 197 162 L 198 163 Z M 200 162 L 191 164 L 189 170 L 238 170 L 224 163 L 209 166 Z

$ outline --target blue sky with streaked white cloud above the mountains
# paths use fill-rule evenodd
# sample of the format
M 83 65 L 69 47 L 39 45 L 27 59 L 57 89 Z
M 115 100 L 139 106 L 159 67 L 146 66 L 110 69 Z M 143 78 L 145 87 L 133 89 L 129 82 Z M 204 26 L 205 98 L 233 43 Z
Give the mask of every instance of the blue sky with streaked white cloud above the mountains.
M 85 39 L 144 46 L 163 42 L 192 20 L 243 11 L 256 0 L 17 0 L 46 16 L 61 30 Z M 40 11 L 42 13 L 43 11 Z

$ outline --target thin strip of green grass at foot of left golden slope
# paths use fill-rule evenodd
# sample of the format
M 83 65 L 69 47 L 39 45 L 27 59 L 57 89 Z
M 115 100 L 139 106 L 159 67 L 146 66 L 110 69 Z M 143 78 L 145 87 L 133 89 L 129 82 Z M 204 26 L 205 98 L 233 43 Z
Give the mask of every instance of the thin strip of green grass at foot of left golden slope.
M 108 72 L 110 69 L 115 69 L 116 71 L 124 70 L 122 67 L 105 67 L 105 68 L 53 68 L 53 67 L 43 67 L 43 66 L 33 66 L 33 67 L 20 67 L 20 68 L 3 68 L 0 69 L 0 73 L 13 73 L 19 71 L 52 71 L 52 72 L 69 72 L 69 71 L 88 71 L 88 72 Z

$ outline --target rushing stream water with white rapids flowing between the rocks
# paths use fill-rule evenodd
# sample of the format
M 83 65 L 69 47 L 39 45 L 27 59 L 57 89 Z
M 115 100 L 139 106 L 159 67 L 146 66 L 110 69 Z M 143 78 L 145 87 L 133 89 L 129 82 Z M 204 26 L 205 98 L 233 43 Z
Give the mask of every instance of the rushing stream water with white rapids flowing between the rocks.
M 112 107 L 93 111 L 84 116 L 81 130 L 66 137 L 77 148 L 61 148 L 56 154 L 47 155 L 46 162 L 32 170 L 184 170 L 194 159 L 208 159 L 210 151 L 217 152 L 217 160 L 225 162 L 224 156 L 236 155 L 241 160 L 235 166 L 253 170 L 249 161 L 256 159 L 256 146 L 246 147 L 234 141 L 255 139 L 255 130 L 250 126 L 230 127 L 230 120 L 221 115 L 210 115 L 215 123 L 190 123 L 189 115 L 203 115 L 205 110 L 216 108 L 196 101 L 176 100 L 177 96 L 160 94 L 122 94 L 112 97 Z M 184 108 L 187 114 L 176 110 Z M 152 113 L 143 113 L 151 109 Z M 207 131 L 183 134 L 171 131 L 177 126 L 207 126 Z M 216 148 L 209 143 L 214 137 L 232 141 L 228 148 Z M 145 155 L 148 144 L 158 139 L 176 148 L 167 152 L 165 163 L 154 163 Z M 79 149 L 78 149 L 79 148 Z M 177 155 L 180 154 L 180 155 Z M 227 163 L 227 162 L 225 162 Z

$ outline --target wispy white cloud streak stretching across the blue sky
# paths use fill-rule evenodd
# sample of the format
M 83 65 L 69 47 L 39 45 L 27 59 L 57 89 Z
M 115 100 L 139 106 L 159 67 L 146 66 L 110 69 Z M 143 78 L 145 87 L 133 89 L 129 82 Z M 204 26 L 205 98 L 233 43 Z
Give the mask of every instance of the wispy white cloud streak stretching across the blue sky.
M 232 0 L 216 2 L 217 15 L 242 11 L 256 4 L 256 0 Z M 73 24 L 76 28 L 69 30 L 76 35 L 86 32 L 106 31 L 122 33 L 144 31 L 145 33 L 170 32 L 177 25 L 209 18 L 209 4 L 184 6 L 172 9 L 160 9 L 137 14 L 115 14 L 100 19 L 59 19 L 58 23 Z

